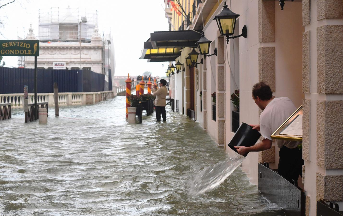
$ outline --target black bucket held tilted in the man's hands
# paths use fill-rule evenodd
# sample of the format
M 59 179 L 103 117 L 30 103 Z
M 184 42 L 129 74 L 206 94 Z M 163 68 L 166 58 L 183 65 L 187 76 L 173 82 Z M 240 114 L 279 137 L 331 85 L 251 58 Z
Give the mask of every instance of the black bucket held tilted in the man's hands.
M 228 146 L 237 152 L 237 149 L 234 146 L 253 146 L 260 138 L 261 134 L 258 130 L 252 129 L 252 127 L 246 123 L 242 123 L 239 128 L 237 129 L 234 137 L 228 144 Z M 237 152 L 238 153 L 238 152 Z M 244 155 L 244 157 L 246 157 Z

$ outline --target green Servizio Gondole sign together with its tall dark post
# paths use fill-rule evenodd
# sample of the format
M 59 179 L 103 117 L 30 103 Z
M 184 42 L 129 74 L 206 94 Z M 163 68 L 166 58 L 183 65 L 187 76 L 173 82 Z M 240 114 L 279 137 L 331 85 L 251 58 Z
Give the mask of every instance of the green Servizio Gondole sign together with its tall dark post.
M 37 120 L 37 56 L 39 56 L 39 40 L 0 40 L 0 56 L 35 57 L 34 117 Z

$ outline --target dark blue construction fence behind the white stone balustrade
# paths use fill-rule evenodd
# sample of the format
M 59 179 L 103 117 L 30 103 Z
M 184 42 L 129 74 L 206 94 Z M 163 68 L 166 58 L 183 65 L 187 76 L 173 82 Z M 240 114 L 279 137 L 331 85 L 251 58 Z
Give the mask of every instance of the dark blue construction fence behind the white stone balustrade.
M 58 92 L 102 92 L 106 81 L 104 74 L 89 70 L 37 70 L 38 93 L 53 93 L 54 82 Z M 34 93 L 34 69 L 0 67 L 0 94 L 23 93 L 24 85 Z

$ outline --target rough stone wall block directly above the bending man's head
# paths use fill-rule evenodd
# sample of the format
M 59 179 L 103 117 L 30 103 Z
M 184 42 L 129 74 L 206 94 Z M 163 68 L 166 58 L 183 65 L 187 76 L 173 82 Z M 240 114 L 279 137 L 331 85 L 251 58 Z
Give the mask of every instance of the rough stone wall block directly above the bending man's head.
M 275 92 L 275 47 L 258 48 L 258 75 Z

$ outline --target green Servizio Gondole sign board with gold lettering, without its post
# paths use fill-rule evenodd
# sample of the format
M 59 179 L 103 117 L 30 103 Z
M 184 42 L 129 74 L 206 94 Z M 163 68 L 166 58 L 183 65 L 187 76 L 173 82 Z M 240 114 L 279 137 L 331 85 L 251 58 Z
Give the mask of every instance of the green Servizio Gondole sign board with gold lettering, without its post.
M 0 40 L 0 56 L 39 56 L 39 40 Z

